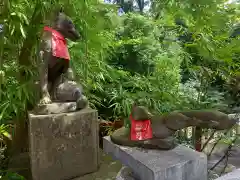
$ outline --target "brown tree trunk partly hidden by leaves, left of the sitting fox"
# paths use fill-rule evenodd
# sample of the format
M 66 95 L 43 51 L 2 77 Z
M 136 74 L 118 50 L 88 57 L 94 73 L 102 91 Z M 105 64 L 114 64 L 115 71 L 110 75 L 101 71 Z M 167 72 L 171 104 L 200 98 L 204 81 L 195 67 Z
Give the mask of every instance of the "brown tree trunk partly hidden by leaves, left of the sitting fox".
M 39 24 L 43 21 L 43 15 L 41 13 L 41 4 L 37 3 L 30 21 L 30 25 L 27 30 L 27 37 L 23 43 L 21 53 L 19 56 L 19 65 L 24 67 L 32 66 L 32 53 L 34 46 L 38 40 Z M 23 69 L 20 72 L 19 81 L 21 84 L 31 80 L 31 77 Z M 29 102 L 25 107 L 28 107 Z M 27 126 L 27 109 L 23 115 L 15 121 L 15 132 L 12 141 L 11 154 L 18 154 L 28 149 L 28 126 Z

